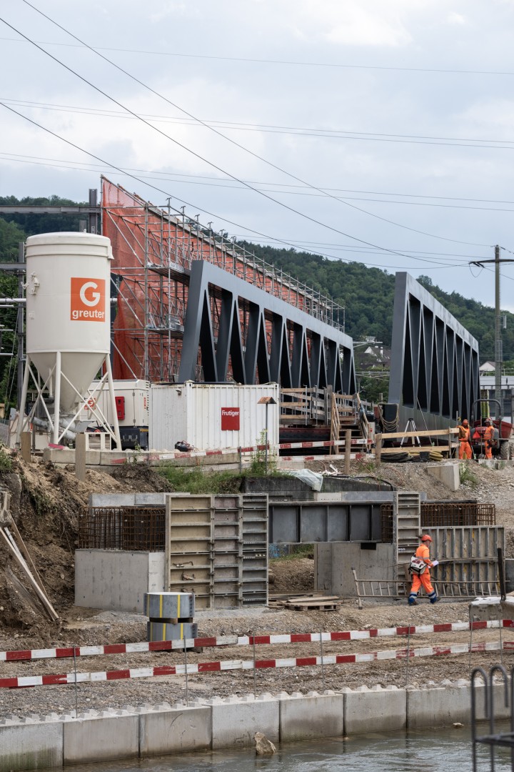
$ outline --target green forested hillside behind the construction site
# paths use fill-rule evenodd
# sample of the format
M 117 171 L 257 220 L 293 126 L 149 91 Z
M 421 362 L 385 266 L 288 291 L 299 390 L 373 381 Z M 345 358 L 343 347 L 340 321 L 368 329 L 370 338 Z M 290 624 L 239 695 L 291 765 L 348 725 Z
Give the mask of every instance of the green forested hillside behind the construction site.
M 0 205 L 42 205 L 72 206 L 84 202 L 67 198 L 22 199 L 14 196 L 0 197 Z M 19 242 L 35 233 L 78 230 L 79 215 L 0 215 L 0 261 L 15 262 L 18 259 Z M 354 341 L 375 337 L 386 347 L 391 345 L 392 310 L 395 292 L 395 275 L 378 268 L 368 268 L 361 262 L 331 260 L 309 252 L 294 249 L 277 249 L 270 246 L 240 242 L 257 257 L 273 264 L 284 273 L 290 273 L 302 283 L 328 296 L 344 307 L 345 330 Z M 490 277 L 492 281 L 492 276 Z M 465 298 L 458 292 L 448 293 L 440 289 L 428 276 L 418 279 L 429 292 L 463 327 L 479 341 L 480 360 L 494 359 L 494 309 L 484 306 L 478 300 Z M 0 274 L 0 294 L 16 296 L 18 283 L 15 276 Z M 15 308 L 2 311 L 5 330 L 14 330 Z M 341 323 L 343 319 L 340 320 Z M 507 328 L 502 331 L 505 360 L 514 360 L 514 314 L 507 313 Z M 9 350 L 14 335 L 5 332 L 2 338 L 3 350 Z M 513 363 L 514 364 L 514 363 Z M 0 358 L 0 398 L 4 398 L 8 361 Z

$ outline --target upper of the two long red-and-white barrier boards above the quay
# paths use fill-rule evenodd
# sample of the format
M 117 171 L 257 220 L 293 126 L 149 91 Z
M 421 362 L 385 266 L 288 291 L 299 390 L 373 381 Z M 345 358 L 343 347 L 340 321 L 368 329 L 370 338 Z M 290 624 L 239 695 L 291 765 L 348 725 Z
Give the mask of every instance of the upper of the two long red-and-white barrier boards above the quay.
M 372 628 L 370 630 L 344 630 L 338 632 L 305 632 L 291 635 L 220 635 L 204 638 L 180 638 L 173 641 L 137 643 L 112 643 L 100 646 L 67 646 L 63 648 L 33 648 L 21 651 L 0 652 L 0 662 L 20 662 L 35 659 L 68 659 L 69 657 L 93 657 L 111 654 L 141 654 L 145 652 L 183 651 L 186 648 L 214 648 L 217 646 L 277 645 L 288 643 L 317 643 L 330 641 L 365 641 L 369 638 L 386 636 L 426 635 L 438 632 L 455 632 L 499 628 L 499 620 L 476 622 L 445 622 L 440 625 L 415 625 L 395 628 Z M 503 627 L 514 627 L 514 620 L 504 619 Z

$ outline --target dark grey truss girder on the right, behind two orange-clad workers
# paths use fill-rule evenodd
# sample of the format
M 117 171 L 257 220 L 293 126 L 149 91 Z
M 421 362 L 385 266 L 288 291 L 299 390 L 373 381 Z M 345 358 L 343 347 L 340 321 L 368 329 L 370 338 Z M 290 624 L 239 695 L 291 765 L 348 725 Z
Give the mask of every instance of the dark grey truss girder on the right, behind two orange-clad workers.
M 470 418 L 479 398 L 479 344 L 408 273 L 397 273 L 389 402 L 400 405 L 400 430 L 446 428 Z

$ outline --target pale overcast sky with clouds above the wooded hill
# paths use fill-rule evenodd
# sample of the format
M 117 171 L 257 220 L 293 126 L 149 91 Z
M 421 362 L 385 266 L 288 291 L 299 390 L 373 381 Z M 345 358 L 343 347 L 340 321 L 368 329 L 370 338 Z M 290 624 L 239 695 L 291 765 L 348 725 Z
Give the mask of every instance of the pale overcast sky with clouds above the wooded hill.
M 494 304 L 469 261 L 514 259 L 514 0 L 32 6 L 0 4 L 0 195 L 85 201 L 103 173 L 230 236 Z

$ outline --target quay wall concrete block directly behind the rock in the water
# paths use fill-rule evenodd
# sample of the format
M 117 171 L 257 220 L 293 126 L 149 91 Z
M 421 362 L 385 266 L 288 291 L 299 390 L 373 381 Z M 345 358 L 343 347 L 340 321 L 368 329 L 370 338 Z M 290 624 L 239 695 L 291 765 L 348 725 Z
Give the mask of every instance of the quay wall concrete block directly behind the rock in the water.
M 217 748 L 246 748 L 254 745 L 254 734 L 262 732 L 272 743 L 279 741 L 280 703 L 268 702 L 211 704 L 213 750 Z

